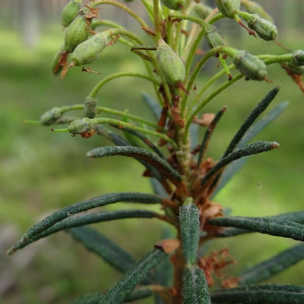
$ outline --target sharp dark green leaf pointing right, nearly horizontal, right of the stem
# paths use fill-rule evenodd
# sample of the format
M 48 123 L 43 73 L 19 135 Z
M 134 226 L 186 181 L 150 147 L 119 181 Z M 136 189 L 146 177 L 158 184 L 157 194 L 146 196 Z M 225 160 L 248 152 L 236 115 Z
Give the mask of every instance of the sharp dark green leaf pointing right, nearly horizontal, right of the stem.
M 271 236 L 304 241 L 304 226 L 283 219 L 231 216 L 212 218 L 208 223 L 216 226 L 236 227 Z

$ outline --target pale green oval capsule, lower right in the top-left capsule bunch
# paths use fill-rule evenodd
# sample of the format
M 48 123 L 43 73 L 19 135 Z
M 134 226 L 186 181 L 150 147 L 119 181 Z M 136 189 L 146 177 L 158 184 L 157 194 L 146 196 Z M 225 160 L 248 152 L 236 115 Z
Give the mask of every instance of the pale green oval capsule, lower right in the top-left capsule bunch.
M 104 32 L 95 34 L 75 48 L 71 55 L 72 61 L 77 66 L 93 62 L 105 49 L 107 42 L 107 35 Z

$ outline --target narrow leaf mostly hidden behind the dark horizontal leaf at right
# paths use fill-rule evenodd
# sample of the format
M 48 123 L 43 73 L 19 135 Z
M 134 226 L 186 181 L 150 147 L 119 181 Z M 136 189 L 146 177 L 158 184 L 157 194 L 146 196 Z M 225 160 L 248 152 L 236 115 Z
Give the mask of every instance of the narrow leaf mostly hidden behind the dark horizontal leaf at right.
M 290 220 L 292 222 L 300 223 L 300 224 L 304 223 L 304 211 L 288 212 L 288 213 L 283 213 L 283 214 L 273 215 L 268 217 Z M 241 234 L 247 234 L 253 232 L 254 231 L 230 227 L 218 232 L 216 236 L 220 238 L 227 238 L 227 237 L 234 237 Z

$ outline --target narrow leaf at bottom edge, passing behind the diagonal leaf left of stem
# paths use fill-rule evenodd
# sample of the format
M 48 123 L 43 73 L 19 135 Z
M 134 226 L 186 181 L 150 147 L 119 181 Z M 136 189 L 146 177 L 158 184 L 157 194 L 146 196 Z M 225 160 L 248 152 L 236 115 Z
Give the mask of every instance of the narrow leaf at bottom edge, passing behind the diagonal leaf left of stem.
M 124 300 L 126 302 L 133 302 L 139 299 L 146 298 L 152 294 L 152 290 L 149 287 L 138 287 L 132 291 Z M 91 293 L 74 299 L 69 302 L 69 304 L 98 304 L 102 300 L 104 294 L 101 293 Z

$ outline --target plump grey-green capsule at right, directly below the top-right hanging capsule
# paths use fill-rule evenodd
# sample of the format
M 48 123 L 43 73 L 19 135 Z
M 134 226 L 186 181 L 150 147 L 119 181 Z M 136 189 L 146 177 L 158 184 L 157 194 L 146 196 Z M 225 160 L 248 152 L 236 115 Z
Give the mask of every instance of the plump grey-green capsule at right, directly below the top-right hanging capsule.
M 238 51 L 233 57 L 233 62 L 248 79 L 262 81 L 267 76 L 265 63 L 246 51 Z

